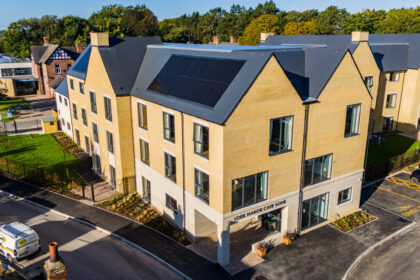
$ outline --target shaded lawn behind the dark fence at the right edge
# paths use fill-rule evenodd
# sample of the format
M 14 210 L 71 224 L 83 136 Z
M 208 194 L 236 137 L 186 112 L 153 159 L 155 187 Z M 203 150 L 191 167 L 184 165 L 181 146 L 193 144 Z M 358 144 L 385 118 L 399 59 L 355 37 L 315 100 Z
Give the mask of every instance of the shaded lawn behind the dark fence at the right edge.
M 420 149 L 420 141 L 399 134 L 384 135 L 380 145 L 369 145 L 367 166 L 386 161 L 401 154 L 410 155 L 417 149 Z

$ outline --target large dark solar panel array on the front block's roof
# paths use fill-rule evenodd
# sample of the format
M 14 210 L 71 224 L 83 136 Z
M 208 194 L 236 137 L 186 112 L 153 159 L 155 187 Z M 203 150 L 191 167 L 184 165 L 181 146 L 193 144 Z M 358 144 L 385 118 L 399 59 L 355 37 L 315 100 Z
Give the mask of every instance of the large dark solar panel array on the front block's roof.
M 172 55 L 148 89 L 214 107 L 245 60 Z

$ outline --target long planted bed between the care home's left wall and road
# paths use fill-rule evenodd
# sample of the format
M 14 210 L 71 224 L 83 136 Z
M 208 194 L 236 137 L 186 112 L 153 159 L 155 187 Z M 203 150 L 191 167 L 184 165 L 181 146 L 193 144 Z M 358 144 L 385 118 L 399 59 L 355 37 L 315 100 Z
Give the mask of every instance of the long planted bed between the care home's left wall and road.
M 113 199 L 98 203 L 96 206 L 142 223 L 184 245 L 190 244 L 183 231 L 171 225 L 154 207 L 141 199 L 137 193 L 129 195 L 118 194 Z

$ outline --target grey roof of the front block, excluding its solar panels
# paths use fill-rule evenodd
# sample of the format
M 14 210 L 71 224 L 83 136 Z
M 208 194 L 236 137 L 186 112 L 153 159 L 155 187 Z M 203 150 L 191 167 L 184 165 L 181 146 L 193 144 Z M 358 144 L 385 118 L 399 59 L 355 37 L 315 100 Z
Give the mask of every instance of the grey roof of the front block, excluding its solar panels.
M 194 49 L 195 48 L 195 49 Z M 203 45 L 173 47 L 149 46 L 131 95 L 208 120 L 223 124 L 246 94 L 268 59 L 274 55 L 303 101 L 317 98 L 340 63 L 347 50 L 332 51 L 325 48 L 283 46 L 276 48 L 226 47 L 206 49 Z M 179 98 L 149 90 L 172 56 L 196 56 L 197 58 L 230 59 L 245 61 L 234 79 L 214 106 L 192 102 L 193 98 Z M 201 77 L 206 80 L 205 77 Z M 186 86 L 188 88 L 188 86 Z M 197 95 L 199 92 L 185 94 Z

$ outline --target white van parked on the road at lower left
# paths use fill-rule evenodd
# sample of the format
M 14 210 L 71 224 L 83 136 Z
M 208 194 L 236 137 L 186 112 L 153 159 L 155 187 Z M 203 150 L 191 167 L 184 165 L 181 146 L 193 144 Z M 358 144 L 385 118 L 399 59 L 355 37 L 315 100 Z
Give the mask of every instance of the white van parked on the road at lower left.
M 38 234 L 25 224 L 14 222 L 0 226 L 0 253 L 9 260 L 20 260 L 41 248 Z

